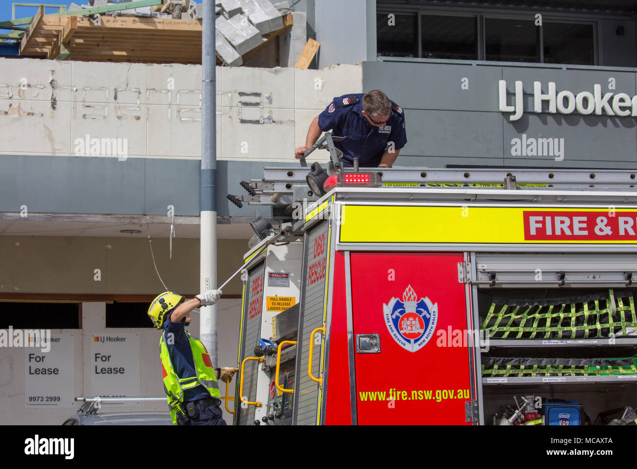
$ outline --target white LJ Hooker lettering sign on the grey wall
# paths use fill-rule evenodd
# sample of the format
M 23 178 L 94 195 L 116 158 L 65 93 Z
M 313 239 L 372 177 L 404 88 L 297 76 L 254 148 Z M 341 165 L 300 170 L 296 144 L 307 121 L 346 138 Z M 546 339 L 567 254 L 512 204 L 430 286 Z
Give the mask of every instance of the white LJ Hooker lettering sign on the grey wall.
M 515 82 L 513 105 L 506 100 L 506 80 L 499 80 L 499 110 L 513 113 L 510 121 L 517 121 L 524 114 L 524 86 L 521 81 Z M 547 92 L 543 93 L 541 82 L 533 82 L 533 112 L 542 113 L 542 103 L 547 103 L 549 114 L 572 114 L 575 110 L 582 115 L 619 115 L 620 117 L 637 116 L 637 96 L 626 93 L 602 93 L 601 85 L 594 84 L 590 91 L 562 90 L 557 92 L 555 82 L 548 82 Z

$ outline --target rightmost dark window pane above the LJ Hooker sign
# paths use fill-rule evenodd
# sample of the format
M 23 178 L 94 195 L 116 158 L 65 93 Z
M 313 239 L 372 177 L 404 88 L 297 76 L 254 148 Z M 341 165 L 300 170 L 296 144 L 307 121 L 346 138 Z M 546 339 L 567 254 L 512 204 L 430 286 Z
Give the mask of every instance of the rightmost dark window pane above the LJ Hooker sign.
M 544 23 L 544 61 L 594 65 L 592 24 Z

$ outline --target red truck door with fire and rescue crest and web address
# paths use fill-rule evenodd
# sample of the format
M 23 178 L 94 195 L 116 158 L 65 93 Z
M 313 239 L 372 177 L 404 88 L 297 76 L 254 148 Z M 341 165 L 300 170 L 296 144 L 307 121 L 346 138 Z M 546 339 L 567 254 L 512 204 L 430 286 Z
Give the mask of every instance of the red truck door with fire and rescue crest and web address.
M 466 424 L 462 253 L 350 253 L 359 424 Z

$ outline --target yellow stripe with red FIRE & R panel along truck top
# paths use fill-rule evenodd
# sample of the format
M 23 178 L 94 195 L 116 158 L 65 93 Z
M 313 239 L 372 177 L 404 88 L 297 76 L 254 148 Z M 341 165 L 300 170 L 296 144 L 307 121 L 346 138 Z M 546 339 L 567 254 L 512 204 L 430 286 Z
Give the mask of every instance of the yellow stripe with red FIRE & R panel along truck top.
M 637 209 L 343 205 L 341 242 L 630 244 Z

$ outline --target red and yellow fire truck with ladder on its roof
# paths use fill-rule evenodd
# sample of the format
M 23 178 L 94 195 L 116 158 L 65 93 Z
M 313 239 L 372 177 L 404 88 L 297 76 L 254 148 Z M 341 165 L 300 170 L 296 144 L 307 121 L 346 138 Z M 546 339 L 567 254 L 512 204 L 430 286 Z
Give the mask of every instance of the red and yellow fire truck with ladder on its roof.
M 516 394 L 634 405 L 634 363 L 592 360 L 635 355 L 635 174 L 335 161 L 327 179 L 265 168 L 235 198 L 282 225 L 256 220 L 244 258 L 234 424 L 491 424 Z

